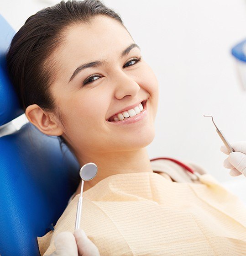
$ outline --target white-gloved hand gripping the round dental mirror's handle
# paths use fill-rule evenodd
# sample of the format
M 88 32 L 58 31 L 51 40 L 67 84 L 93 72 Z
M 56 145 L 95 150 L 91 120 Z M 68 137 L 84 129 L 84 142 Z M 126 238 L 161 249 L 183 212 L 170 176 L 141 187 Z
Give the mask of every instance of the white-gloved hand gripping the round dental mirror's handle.
M 56 251 L 47 256 L 100 256 L 98 248 L 83 229 L 59 233 L 54 240 Z

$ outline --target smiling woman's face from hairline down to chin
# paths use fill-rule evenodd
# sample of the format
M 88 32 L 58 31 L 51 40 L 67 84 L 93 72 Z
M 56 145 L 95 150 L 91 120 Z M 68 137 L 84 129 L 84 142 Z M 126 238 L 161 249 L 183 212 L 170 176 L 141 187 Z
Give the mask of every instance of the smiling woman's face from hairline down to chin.
M 133 43 L 119 22 L 97 16 L 91 25 L 69 27 L 65 41 L 53 55 L 59 71 L 50 90 L 62 114 L 62 135 L 75 154 L 130 151 L 143 148 L 154 139 L 158 82 L 143 57 L 136 61 L 141 57 L 139 48 L 122 54 Z M 105 61 L 78 71 L 81 65 L 98 60 Z M 91 75 L 94 78 L 88 79 Z M 144 100 L 147 115 L 140 121 L 107 121 Z

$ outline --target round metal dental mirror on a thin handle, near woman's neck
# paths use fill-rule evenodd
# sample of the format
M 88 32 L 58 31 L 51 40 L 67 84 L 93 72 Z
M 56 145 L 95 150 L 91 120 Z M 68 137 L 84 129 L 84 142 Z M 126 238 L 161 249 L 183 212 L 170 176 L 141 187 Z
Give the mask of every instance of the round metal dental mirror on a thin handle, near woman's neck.
M 94 163 L 87 163 L 87 164 L 83 165 L 79 171 L 79 176 L 82 179 L 82 184 L 81 184 L 79 201 L 78 201 L 78 205 L 77 205 L 75 229 L 79 229 L 79 226 L 80 226 L 82 202 L 83 202 L 82 193 L 83 193 L 84 181 L 90 181 L 96 175 L 97 175 L 97 165 L 95 165 Z

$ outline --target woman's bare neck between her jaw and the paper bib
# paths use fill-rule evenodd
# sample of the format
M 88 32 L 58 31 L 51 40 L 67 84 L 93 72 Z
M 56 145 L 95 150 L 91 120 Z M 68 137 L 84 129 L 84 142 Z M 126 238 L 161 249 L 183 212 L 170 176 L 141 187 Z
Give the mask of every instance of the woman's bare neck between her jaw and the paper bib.
M 96 157 L 91 157 L 91 156 Z M 97 175 L 90 181 L 84 181 L 83 192 L 96 185 L 99 181 L 106 177 L 120 173 L 133 172 L 153 172 L 151 162 L 149 160 L 147 149 L 138 149 L 136 151 L 113 152 L 112 154 L 90 154 L 89 157 L 78 158 L 80 166 L 92 162 L 98 167 Z M 81 181 L 75 192 L 79 194 L 81 190 Z

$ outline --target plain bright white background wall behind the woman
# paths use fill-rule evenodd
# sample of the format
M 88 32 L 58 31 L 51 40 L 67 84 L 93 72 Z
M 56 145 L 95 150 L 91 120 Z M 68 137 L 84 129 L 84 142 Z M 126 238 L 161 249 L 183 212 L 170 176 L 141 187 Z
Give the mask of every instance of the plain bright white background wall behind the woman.
M 0 13 L 17 31 L 56 0 L 1 1 Z M 231 177 L 223 144 L 246 140 L 246 92 L 241 91 L 230 49 L 246 37 L 245 0 L 104 0 L 120 13 L 142 56 L 157 75 L 160 101 L 150 158 L 173 157 L 203 166 L 219 181 Z M 20 127 L 25 118 L 14 121 Z M 27 120 L 27 119 L 26 119 Z M 229 184 L 228 183 L 228 184 Z

